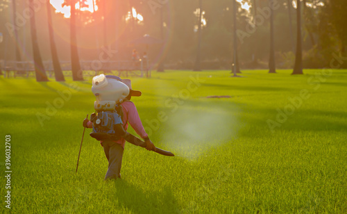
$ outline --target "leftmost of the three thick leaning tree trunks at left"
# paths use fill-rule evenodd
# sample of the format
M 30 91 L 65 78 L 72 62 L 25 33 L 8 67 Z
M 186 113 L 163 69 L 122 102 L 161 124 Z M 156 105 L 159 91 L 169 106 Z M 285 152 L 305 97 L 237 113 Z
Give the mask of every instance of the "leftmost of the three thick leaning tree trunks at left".
M 42 58 L 40 54 L 39 44 L 37 42 L 36 24 L 35 24 L 35 12 L 33 11 L 34 3 L 33 0 L 29 0 L 29 10 L 31 10 L 31 43 L 33 44 L 33 58 L 35 66 L 36 81 L 48 81 L 46 71 L 44 70 L 44 65 L 42 63 Z

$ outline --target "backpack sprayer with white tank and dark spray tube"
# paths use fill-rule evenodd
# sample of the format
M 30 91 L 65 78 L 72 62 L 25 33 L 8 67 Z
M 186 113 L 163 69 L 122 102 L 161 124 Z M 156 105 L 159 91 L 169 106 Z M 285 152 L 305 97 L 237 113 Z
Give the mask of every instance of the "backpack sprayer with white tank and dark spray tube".
M 119 140 L 124 138 L 133 145 L 145 148 L 146 142 L 128 133 L 123 128 L 121 103 L 130 94 L 130 89 L 123 83 L 122 79 L 118 76 L 105 76 L 104 74 L 94 76 L 92 92 L 96 97 L 94 102 L 96 112 L 90 115 L 90 121 L 93 123 L 93 132 L 90 133 L 90 136 L 96 140 Z M 155 148 L 153 151 L 164 156 L 174 156 L 170 151 L 159 148 Z

